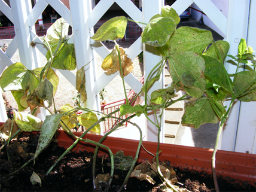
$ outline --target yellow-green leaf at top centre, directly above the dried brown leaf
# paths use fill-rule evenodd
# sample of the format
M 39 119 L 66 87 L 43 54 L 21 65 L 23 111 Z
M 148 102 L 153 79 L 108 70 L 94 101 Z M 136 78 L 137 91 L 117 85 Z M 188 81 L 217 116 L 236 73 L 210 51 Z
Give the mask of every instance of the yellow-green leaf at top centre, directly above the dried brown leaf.
M 126 26 L 126 17 L 114 17 L 100 26 L 95 35 L 92 36 L 92 39 L 95 41 L 106 41 L 123 38 L 126 32 Z

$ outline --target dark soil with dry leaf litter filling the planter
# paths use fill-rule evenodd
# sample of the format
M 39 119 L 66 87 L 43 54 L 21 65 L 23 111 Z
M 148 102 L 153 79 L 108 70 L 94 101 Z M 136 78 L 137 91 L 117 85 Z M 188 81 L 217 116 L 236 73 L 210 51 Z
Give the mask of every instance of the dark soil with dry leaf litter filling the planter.
M 27 160 L 35 153 L 38 143 L 39 134 L 34 136 L 22 133 L 15 142 L 11 142 L 10 147 L 1 151 L 1 191 L 93 191 L 92 183 L 92 161 L 93 154 L 82 152 L 68 153 L 53 169 L 53 171 L 45 176 L 45 173 L 57 158 L 65 151 L 60 148 L 55 142 L 42 152 L 35 164 L 29 163 L 26 167 L 20 170 L 15 175 L 9 175 L 14 170 L 19 169 Z M 9 159 L 8 160 L 8 156 Z M 96 175 L 109 173 L 110 169 L 105 164 L 108 159 L 103 160 L 98 158 L 96 165 Z M 191 173 L 185 170 L 175 168 L 179 182 L 183 183 L 183 187 L 187 187 L 190 191 L 214 191 L 211 176 L 202 175 L 202 173 Z M 41 187 L 39 184 L 32 185 L 30 177 L 36 172 L 42 181 Z M 126 171 L 114 171 L 109 191 L 117 191 L 118 187 L 123 183 Z M 160 178 L 154 178 L 159 184 Z M 219 181 L 221 191 L 255 191 L 254 188 L 234 188 L 227 182 Z M 129 178 L 124 191 L 158 191 L 157 184 L 152 185 L 147 181 L 139 181 L 136 178 Z M 235 186 L 237 187 L 237 186 Z M 104 190 L 104 186 L 102 186 Z

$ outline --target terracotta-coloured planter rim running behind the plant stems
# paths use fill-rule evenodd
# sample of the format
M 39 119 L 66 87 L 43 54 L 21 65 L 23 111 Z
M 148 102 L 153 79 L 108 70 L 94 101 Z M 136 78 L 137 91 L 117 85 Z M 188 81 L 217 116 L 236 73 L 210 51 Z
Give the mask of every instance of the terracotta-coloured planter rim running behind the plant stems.
M 75 133 L 75 135 L 80 136 L 81 133 Z M 93 141 L 99 141 L 102 136 L 89 135 L 87 134 L 85 138 L 91 139 Z M 68 148 L 74 138 L 63 131 L 59 131 L 59 135 L 56 138 L 60 147 Z M 133 141 L 130 139 L 121 139 L 108 137 L 102 142 L 103 145 L 108 146 L 112 153 L 116 153 L 119 150 L 124 151 L 124 154 L 135 156 L 136 149 L 138 147 L 138 141 Z M 144 147 L 148 151 L 153 153 L 157 150 L 156 142 L 143 142 Z M 95 146 L 90 144 L 84 144 L 79 142 L 74 148 L 74 151 L 92 151 L 94 152 Z M 211 168 L 211 157 L 212 150 L 205 148 L 196 147 L 185 147 L 181 145 L 172 144 L 160 144 L 160 160 L 169 161 L 171 166 L 179 167 L 181 169 L 196 170 L 198 172 L 212 174 Z M 99 156 L 103 154 L 108 154 L 106 150 L 99 150 Z M 138 161 L 144 161 L 147 159 L 152 159 L 153 156 L 148 154 L 143 148 L 139 153 Z M 237 182 L 243 184 L 251 184 L 255 187 L 256 183 L 256 155 L 255 154 L 245 154 L 236 153 L 230 151 L 217 151 L 217 176 L 221 176 L 230 182 Z

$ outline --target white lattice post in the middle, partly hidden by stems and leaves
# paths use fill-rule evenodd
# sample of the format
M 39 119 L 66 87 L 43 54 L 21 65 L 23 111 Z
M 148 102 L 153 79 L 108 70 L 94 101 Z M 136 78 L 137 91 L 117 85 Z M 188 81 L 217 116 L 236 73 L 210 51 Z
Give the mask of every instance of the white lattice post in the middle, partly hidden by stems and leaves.
M 155 14 L 161 13 L 161 7 L 163 7 L 164 1 L 151 1 L 150 3 L 148 1 L 142 1 L 142 21 L 144 23 L 148 23 Z M 150 45 L 145 45 L 143 47 L 143 56 L 144 56 L 144 78 L 145 80 L 148 77 L 148 74 L 150 73 L 151 69 L 161 60 L 161 56 L 156 51 L 156 49 Z M 163 74 L 161 74 L 161 77 L 159 81 L 154 83 L 154 85 L 149 90 L 148 95 L 150 96 L 151 93 L 154 90 L 162 89 L 163 88 Z M 146 99 L 146 98 L 145 98 Z M 157 111 L 157 116 L 160 115 L 160 110 Z M 148 112 L 148 117 L 151 121 L 157 124 L 157 119 L 155 117 L 155 114 L 153 111 Z M 158 121 L 162 121 L 162 127 L 161 127 L 161 134 L 160 134 L 160 142 L 164 142 L 164 123 L 163 118 L 158 117 Z M 147 127 L 147 141 L 154 141 L 157 142 L 157 134 L 158 129 L 156 126 L 154 126 L 153 123 L 151 123 L 149 120 L 146 120 L 146 127 Z

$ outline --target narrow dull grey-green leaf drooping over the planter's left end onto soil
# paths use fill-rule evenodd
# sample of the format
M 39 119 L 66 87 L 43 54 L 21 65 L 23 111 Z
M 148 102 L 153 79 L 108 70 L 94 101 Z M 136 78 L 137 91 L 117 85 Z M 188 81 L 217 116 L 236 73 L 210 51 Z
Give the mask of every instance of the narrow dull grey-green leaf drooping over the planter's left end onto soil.
M 60 124 L 60 119 L 62 118 L 61 113 L 54 114 L 54 115 L 47 115 L 44 124 L 42 124 L 41 127 L 41 134 L 38 139 L 38 145 L 36 147 L 35 156 L 34 158 L 34 164 L 36 157 L 39 156 L 39 154 L 48 147 L 51 143 L 51 139 L 53 139 L 53 136 L 57 130 L 57 127 Z

